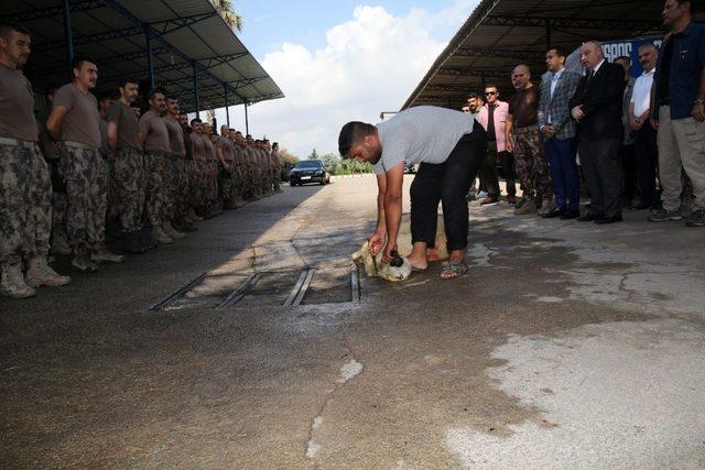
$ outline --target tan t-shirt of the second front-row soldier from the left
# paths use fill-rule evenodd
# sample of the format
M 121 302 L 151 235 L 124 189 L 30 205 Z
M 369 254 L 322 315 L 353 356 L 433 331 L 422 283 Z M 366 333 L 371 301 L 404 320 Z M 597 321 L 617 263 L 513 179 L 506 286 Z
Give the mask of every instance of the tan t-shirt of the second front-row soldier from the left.
M 62 141 L 100 147 L 100 113 L 96 97 L 66 84 L 54 95 L 54 107 L 59 106 L 68 109 L 62 122 Z

